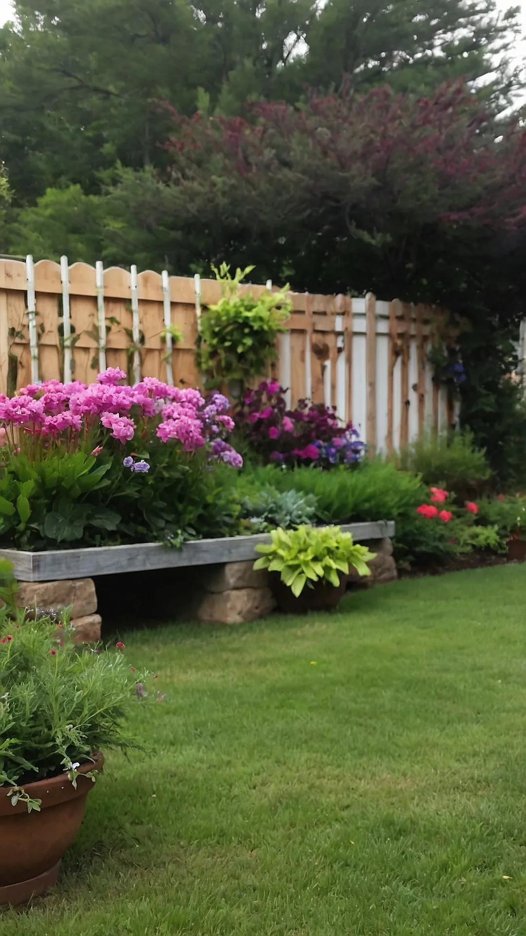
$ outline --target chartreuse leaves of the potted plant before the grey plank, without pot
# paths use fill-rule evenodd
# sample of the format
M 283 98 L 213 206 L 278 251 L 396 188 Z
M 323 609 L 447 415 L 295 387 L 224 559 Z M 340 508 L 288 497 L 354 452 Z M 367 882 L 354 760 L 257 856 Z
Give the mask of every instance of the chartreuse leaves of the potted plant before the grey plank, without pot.
M 300 526 L 298 530 L 272 530 L 271 543 L 260 543 L 256 552 L 262 552 L 254 563 L 255 569 L 279 572 L 281 579 L 298 597 L 305 585 L 314 588 L 314 582 L 324 581 L 335 588 L 340 584 L 340 575 L 347 575 L 352 565 L 360 576 L 371 575 L 367 563 L 374 553 L 365 546 L 353 542 L 350 533 L 342 533 L 341 527 L 315 528 Z

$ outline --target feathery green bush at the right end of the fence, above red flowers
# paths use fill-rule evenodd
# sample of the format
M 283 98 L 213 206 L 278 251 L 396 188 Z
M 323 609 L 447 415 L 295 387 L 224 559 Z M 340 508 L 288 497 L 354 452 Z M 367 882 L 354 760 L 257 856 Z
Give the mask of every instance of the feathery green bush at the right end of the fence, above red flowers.
M 484 449 L 476 448 L 469 432 L 449 437 L 431 434 L 400 456 L 402 468 L 422 476 L 425 484 L 455 491 L 460 499 L 475 494 L 491 474 Z

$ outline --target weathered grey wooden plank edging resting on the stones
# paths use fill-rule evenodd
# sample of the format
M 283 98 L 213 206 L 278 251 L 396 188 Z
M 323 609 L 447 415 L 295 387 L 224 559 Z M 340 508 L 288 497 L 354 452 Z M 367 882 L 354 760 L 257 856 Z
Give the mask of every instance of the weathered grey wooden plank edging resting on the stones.
M 393 536 L 395 524 L 393 520 L 347 523 L 342 524 L 342 530 L 353 534 L 358 542 L 364 542 Z M 128 546 L 50 549 L 42 552 L 0 549 L 0 557 L 13 563 L 15 578 L 26 582 L 44 582 L 188 565 L 237 563 L 255 559 L 256 545 L 269 542 L 270 534 L 256 534 L 193 540 L 184 543 L 182 549 L 169 548 L 161 543 L 132 543 Z

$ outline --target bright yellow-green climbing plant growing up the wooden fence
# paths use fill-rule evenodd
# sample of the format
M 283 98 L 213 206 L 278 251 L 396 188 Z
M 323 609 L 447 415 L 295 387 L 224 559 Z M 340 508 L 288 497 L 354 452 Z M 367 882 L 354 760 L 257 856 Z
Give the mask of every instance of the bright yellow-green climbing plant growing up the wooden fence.
M 286 298 L 288 286 L 280 292 L 265 290 L 255 299 L 250 293 L 240 295 L 241 280 L 254 267 L 237 270 L 230 276 L 226 263 L 212 268 L 221 283 L 222 298 L 201 316 L 197 338 L 197 367 L 205 378 L 206 388 L 220 387 L 230 380 L 245 384 L 251 377 L 265 373 L 277 355 L 274 342 L 292 303 Z

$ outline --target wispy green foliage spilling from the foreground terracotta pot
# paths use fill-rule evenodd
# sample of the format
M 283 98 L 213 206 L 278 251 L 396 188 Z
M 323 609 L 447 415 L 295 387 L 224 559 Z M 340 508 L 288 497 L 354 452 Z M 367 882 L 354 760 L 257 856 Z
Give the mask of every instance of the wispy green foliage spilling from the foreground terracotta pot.
M 76 646 L 67 618 L 57 626 L 24 614 L 0 611 L 0 787 L 74 771 L 94 751 L 132 743 L 123 724 L 138 674 L 124 654 Z

